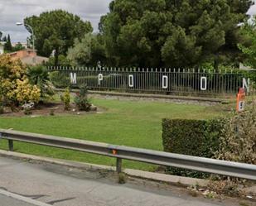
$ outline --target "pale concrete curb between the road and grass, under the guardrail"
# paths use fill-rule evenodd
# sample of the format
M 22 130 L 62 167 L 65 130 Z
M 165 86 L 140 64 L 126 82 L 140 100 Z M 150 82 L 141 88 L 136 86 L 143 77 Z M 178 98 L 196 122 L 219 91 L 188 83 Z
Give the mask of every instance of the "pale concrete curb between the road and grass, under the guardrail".
M 71 160 L 60 160 L 60 159 L 53 159 L 48 157 L 32 156 L 32 155 L 13 152 L 13 151 L 0 150 L 0 156 L 7 156 L 7 157 L 26 159 L 26 160 L 37 160 L 37 161 L 51 163 L 55 165 L 63 165 L 63 166 L 68 166 L 68 167 L 73 167 L 78 169 L 84 169 L 84 170 L 109 170 L 109 171 L 115 170 L 115 167 L 107 166 L 107 165 L 94 165 L 94 164 L 81 163 L 81 162 L 71 161 Z M 209 183 L 208 180 L 200 180 L 200 179 L 174 176 L 174 175 L 165 175 L 165 174 L 147 172 L 142 170 L 125 169 L 123 170 L 123 173 L 136 178 L 159 181 L 159 182 L 164 182 L 168 184 L 178 184 L 178 185 L 184 185 L 184 186 L 198 185 L 200 187 L 206 187 L 207 184 Z

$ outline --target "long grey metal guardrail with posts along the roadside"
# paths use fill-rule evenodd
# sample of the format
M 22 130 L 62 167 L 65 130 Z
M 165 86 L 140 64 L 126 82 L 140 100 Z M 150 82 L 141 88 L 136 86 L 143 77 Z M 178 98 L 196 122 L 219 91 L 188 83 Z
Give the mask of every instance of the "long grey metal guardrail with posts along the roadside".
M 0 138 L 8 140 L 10 151 L 13 151 L 13 141 L 23 141 L 42 146 L 53 146 L 114 157 L 117 159 L 116 166 L 118 173 L 121 172 L 122 160 L 125 159 L 256 180 L 256 165 L 238 162 L 214 160 L 197 156 L 184 156 L 162 151 L 145 150 L 128 146 L 115 146 L 93 141 L 82 141 L 12 130 L 0 130 Z

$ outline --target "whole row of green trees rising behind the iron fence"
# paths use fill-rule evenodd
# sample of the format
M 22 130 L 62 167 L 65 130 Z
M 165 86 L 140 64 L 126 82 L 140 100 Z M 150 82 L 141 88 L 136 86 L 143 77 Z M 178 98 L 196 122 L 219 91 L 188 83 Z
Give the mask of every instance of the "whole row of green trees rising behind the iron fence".
M 248 19 L 250 0 L 114 0 L 99 33 L 61 10 L 28 17 L 36 49 L 67 55 L 71 64 L 139 67 L 235 65 L 244 56 L 237 26 Z M 29 28 L 27 28 L 29 31 Z M 70 48 L 71 47 L 71 48 Z M 70 49 L 69 49 L 70 48 Z M 65 62 L 67 62 L 65 60 Z

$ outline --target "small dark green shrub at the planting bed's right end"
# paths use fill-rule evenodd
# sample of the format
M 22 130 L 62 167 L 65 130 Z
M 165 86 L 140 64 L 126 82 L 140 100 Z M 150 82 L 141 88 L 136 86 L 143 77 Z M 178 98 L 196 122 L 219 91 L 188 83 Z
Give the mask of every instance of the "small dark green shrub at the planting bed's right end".
M 91 103 L 89 103 L 88 99 L 88 88 L 87 86 L 82 86 L 80 92 L 76 94 L 75 97 L 75 105 L 80 111 L 89 111 L 91 107 Z

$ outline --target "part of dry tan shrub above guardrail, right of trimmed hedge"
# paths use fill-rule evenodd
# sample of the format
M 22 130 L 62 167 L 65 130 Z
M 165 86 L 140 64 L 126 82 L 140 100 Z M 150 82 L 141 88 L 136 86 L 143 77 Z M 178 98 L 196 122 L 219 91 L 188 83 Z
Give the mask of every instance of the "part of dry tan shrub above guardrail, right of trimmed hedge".
M 256 102 L 226 119 L 215 158 L 256 165 Z

